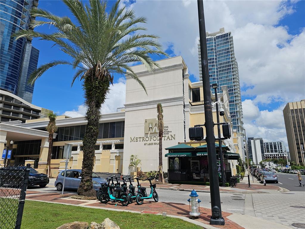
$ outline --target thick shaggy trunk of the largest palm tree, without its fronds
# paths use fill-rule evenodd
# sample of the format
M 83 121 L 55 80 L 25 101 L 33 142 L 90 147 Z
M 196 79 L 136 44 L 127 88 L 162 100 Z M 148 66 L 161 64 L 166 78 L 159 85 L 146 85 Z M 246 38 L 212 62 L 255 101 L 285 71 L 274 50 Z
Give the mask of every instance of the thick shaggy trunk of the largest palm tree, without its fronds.
M 109 81 L 103 82 L 95 77 L 88 76 L 84 80 L 85 99 L 88 106 L 86 119 L 88 121 L 83 140 L 83 164 L 81 183 L 77 189 L 78 195 L 95 196 L 93 190 L 92 171 L 94 167 L 95 144 L 99 134 L 100 108 L 109 91 Z

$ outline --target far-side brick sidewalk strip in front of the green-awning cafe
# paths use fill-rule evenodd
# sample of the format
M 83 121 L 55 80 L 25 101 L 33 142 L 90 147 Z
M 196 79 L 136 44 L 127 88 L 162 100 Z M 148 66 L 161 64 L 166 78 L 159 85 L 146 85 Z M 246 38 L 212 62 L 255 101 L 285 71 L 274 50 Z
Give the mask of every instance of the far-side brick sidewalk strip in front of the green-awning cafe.
M 141 185 L 143 187 L 149 187 L 148 181 L 141 182 Z M 171 189 L 171 190 L 185 190 L 190 191 L 192 189 L 195 189 L 196 191 L 206 191 L 210 192 L 210 186 L 205 185 L 191 185 L 191 184 L 157 184 L 157 188 L 162 189 Z M 245 183 L 239 183 L 236 185 L 236 187 L 219 187 L 220 192 L 268 192 L 267 190 L 273 190 L 278 191 L 280 190 L 280 187 L 275 185 L 267 185 L 264 186 L 262 184 L 251 184 L 250 187 L 248 187 L 248 184 Z

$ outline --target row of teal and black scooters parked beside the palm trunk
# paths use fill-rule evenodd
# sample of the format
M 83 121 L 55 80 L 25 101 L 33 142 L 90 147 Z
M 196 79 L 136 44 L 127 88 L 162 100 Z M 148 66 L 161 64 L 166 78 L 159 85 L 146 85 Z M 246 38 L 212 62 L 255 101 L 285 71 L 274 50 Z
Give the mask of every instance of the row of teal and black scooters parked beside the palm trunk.
M 139 183 L 139 179 L 143 177 L 135 176 L 109 176 L 106 180 L 107 183 L 101 184 L 99 191 L 96 193 L 97 199 L 102 203 L 107 203 L 110 200 L 113 202 L 121 202 L 123 206 L 131 204 L 134 200 L 138 205 L 143 204 L 145 199 L 153 198 L 155 202 L 159 201 L 158 193 L 156 192 L 156 184 L 152 184 L 151 180 L 155 179 L 154 177 L 149 177 L 145 180 L 149 180 L 150 183 L 150 194 L 147 196 L 146 188 L 142 187 Z M 129 180 L 129 187 L 127 188 L 127 179 Z M 131 180 L 136 179 L 138 182 L 137 188 L 138 191 L 135 191 L 136 187 L 133 186 Z M 116 180 L 116 183 L 114 183 Z M 123 181 L 123 184 L 120 184 L 119 180 Z M 143 180 L 144 181 L 144 180 Z M 129 190 L 128 190 L 129 189 Z M 116 206 L 117 206 L 116 204 Z

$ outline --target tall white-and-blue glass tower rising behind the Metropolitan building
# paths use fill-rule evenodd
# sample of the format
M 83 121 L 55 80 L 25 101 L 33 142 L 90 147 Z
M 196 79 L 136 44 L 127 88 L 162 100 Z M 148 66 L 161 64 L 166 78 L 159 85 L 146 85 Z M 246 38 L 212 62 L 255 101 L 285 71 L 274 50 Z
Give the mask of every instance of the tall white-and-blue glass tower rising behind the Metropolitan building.
M 242 103 L 240 97 L 238 65 L 234 54 L 233 36 L 231 32 L 224 32 L 221 28 L 215 33 L 206 33 L 206 43 L 208 51 L 208 64 L 210 75 L 210 88 L 217 83 L 217 92 L 222 93 L 221 86 L 228 87 L 229 109 L 232 119 L 233 129 L 238 133 L 243 133 Z M 199 78 L 202 81 L 200 44 L 199 53 Z

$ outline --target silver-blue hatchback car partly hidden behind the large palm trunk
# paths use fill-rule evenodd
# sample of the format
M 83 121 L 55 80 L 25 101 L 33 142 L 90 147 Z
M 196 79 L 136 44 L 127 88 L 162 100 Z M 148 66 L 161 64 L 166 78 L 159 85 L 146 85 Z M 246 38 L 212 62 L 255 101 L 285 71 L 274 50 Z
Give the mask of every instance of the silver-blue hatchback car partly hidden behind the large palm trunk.
M 55 187 L 58 191 L 61 191 L 63 189 L 64 173 L 65 173 L 65 171 L 59 173 L 56 178 Z M 96 173 L 92 173 L 92 182 L 93 182 L 93 189 L 95 191 L 99 190 L 99 187 L 101 187 L 101 184 L 107 183 L 107 181 L 105 179 L 101 178 Z M 79 187 L 80 183 L 81 183 L 81 169 L 67 170 L 66 178 L 65 178 L 65 188 L 77 189 Z

